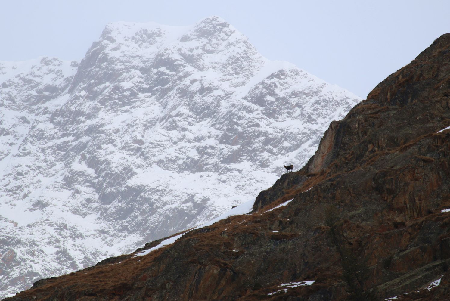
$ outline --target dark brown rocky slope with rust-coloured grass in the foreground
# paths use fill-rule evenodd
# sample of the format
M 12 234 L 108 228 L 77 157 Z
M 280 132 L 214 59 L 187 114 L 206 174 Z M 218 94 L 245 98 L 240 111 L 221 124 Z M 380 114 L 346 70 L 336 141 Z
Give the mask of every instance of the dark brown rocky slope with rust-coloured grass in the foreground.
M 450 130 L 437 133 L 448 126 L 450 34 L 333 122 L 251 214 L 7 300 L 450 300 Z

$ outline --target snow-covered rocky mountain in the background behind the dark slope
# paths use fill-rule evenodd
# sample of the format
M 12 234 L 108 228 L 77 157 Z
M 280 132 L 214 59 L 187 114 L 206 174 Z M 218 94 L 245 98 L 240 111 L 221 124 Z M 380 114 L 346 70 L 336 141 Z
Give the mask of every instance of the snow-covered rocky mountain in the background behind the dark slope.
M 0 62 L 0 297 L 254 199 L 359 101 L 218 17 Z

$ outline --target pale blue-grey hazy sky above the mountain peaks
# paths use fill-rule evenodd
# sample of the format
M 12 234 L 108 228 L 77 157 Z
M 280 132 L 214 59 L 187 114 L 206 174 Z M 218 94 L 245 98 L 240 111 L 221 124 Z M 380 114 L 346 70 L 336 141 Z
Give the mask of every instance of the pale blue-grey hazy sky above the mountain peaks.
M 450 32 L 450 1 L 1 1 L 0 60 L 81 60 L 108 22 L 190 25 L 218 15 L 266 58 L 365 98 Z

